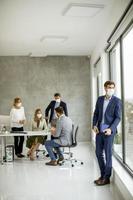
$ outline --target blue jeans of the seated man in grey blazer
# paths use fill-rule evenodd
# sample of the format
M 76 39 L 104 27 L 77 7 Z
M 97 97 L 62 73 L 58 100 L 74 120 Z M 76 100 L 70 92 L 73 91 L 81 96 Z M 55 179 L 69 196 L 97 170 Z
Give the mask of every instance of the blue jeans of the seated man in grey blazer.
M 56 152 L 59 155 L 59 157 L 63 157 L 60 147 L 61 147 L 61 145 L 57 144 L 54 140 L 47 140 L 45 142 L 45 148 L 46 148 L 51 160 L 56 160 L 55 154 L 53 152 L 53 148 L 56 149 Z

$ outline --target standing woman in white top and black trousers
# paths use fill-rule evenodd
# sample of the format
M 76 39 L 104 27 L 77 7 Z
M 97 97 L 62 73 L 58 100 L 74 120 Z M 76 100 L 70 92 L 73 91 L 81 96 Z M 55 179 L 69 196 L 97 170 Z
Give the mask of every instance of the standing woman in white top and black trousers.
M 22 101 L 19 97 L 14 99 L 13 107 L 10 112 L 10 121 L 12 131 L 24 131 L 25 123 L 25 112 L 24 107 L 22 106 Z M 22 158 L 24 155 L 23 151 L 24 136 L 15 136 L 14 137 L 14 146 L 15 154 L 17 157 Z

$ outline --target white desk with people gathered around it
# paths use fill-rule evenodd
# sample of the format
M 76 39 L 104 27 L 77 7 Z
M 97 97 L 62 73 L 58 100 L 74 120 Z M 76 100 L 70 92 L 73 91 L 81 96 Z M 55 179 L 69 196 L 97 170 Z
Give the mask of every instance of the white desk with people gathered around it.
M 10 132 L 5 132 L 5 133 L 0 133 L 1 137 L 1 164 L 4 163 L 3 161 L 3 156 L 4 156 L 4 149 L 5 149 L 5 143 L 4 139 L 5 137 L 13 137 L 13 136 L 46 136 L 46 135 L 51 135 L 49 131 L 24 131 L 26 133 L 10 133 Z

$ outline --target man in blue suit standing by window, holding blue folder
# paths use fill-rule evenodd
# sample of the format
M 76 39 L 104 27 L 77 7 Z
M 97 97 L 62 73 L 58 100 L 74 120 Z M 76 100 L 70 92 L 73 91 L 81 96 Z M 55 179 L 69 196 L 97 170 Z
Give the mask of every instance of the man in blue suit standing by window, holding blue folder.
M 96 185 L 110 183 L 112 170 L 112 145 L 117 126 L 121 120 L 121 100 L 114 96 L 115 83 L 104 83 L 105 95 L 98 97 L 93 116 L 93 130 L 96 133 L 96 156 L 101 176 Z M 104 158 L 105 153 L 105 158 Z

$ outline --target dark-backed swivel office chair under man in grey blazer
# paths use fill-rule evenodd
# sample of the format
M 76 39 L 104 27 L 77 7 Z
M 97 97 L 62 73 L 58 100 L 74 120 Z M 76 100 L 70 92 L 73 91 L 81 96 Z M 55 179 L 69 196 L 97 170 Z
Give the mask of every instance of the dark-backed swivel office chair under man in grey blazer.
M 64 152 L 64 154 L 68 154 L 68 158 L 64 159 L 60 165 L 65 165 L 66 163 L 70 163 L 72 167 L 75 166 L 75 164 L 80 164 L 83 165 L 84 163 L 80 160 L 77 160 L 76 158 L 73 158 L 73 153 L 71 152 L 71 148 L 75 148 L 77 146 L 77 135 L 78 135 L 78 129 L 79 127 L 77 126 L 75 131 L 74 131 L 74 125 L 72 127 L 72 144 L 71 145 L 66 145 L 63 146 L 63 148 L 68 148 L 68 152 Z

